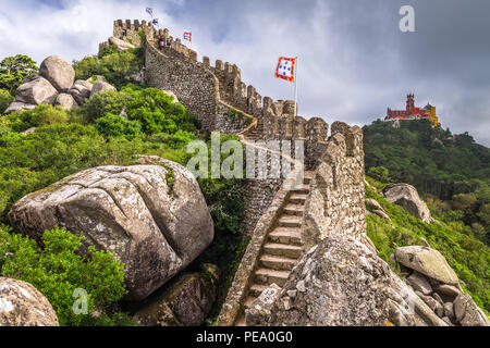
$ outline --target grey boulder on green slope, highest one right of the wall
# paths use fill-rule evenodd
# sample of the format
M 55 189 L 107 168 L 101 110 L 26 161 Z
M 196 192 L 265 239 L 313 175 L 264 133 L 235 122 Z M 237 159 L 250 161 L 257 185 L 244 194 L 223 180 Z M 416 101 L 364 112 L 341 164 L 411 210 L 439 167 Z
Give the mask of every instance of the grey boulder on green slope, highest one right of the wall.
M 401 206 L 413 216 L 427 223 L 432 221 L 429 208 L 420 199 L 414 186 L 408 184 L 389 184 L 383 188 L 382 195 L 388 201 Z

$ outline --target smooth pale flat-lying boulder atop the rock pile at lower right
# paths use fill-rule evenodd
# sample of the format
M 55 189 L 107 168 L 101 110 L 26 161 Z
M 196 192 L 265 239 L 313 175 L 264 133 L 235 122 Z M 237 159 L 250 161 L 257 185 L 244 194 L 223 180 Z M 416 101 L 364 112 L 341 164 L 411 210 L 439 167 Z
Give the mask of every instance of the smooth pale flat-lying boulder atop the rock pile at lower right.
M 456 273 L 445 258 L 436 249 L 420 246 L 400 247 L 395 250 L 396 261 L 444 284 L 460 284 Z

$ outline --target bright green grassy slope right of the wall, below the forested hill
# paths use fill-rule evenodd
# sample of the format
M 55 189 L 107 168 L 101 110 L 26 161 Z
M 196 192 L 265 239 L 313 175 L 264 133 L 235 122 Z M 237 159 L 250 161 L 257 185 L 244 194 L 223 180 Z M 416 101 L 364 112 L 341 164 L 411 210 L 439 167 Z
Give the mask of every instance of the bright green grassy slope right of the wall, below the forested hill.
M 369 184 L 382 187 L 368 178 Z M 397 269 L 389 256 L 396 247 L 424 245 L 422 238 L 431 248 L 439 250 L 465 284 L 468 294 L 487 311 L 490 311 L 490 252 L 488 247 L 473 237 L 471 228 L 461 221 L 427 224 L 413 217 L 403 208 L 392 204 L 376 191 L 366 187 L 366 198 L 377 200 L 388 215 L 391 224 L 376 214 L 367 215 L 367 233 L 380 252 L 380 257 Z

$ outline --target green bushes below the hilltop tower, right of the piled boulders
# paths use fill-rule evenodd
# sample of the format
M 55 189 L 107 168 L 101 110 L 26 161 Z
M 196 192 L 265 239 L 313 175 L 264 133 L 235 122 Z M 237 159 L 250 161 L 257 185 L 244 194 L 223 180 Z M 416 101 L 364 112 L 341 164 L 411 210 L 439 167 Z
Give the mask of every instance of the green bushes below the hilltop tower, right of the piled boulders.
M 113 46 L 108 46 L 100 52 L 100 58 L 86 57 L 74 61 L 76 79 L 88 79 L 95 75 L 102 75 L 118 89 L 132 82 L 131 76 L 138 72 L 144 64 L 143 48 L 134 48 L 118 52 Z

